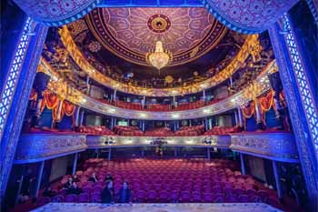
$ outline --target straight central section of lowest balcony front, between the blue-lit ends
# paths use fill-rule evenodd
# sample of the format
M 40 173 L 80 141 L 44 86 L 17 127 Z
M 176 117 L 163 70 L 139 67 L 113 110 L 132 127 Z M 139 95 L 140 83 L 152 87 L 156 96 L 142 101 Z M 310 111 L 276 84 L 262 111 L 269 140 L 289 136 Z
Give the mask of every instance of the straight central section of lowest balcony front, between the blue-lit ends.
M 88 148 L 124 147 L 124 146 L 197 146 L 224 147 L 230 145 L 230 136 L 87 136 Z M 206 142 L 211 141 L 211 142 Z

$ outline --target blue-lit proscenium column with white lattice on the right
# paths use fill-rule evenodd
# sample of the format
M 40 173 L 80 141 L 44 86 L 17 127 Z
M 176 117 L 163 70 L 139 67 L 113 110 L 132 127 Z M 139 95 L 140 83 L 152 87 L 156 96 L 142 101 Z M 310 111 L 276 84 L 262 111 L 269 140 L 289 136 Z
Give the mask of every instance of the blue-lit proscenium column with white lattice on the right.
M 293 133 L 303 168 L 311 210 L 318 209 L 318 113 L 310 84 L 311 70 L 305 60 L 290 21 L 284 14 L 279 23 L 269 29 L 283 90 L 288 103 Z

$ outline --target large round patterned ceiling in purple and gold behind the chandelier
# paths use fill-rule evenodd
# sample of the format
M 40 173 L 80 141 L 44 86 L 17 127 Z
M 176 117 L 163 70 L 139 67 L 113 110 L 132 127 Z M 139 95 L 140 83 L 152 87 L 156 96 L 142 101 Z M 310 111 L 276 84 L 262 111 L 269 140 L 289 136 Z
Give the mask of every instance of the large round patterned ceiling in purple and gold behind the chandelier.
M 174 55 L 170 66 L 177 66 L 203 56 L 227 31 L 204 7 L 96 8 L 85 20 L 107 50 L 143 66 L 158 40 Z

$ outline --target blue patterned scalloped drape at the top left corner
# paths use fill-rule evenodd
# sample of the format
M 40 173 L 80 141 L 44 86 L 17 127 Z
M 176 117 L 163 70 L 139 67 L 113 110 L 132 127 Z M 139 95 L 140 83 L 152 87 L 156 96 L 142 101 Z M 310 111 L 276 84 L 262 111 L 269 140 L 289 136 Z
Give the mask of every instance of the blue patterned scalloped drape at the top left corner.
M 102 0 L 14 0 L 35 21 L 48 26 L 66 25 L 93 10 Z

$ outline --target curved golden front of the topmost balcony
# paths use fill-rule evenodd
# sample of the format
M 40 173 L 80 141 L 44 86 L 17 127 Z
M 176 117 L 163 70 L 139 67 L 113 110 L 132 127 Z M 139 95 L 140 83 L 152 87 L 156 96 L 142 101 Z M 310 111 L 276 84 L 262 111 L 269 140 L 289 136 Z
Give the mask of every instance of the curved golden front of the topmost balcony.
M 100 73 L 96 68 L 94 68 L 94 66 L 92 66 L 83 56 L 77 45 L 75 45 L 72 36 L 69 34 L 67 26 L 63 26 L 59 32 L 67 52 L 70 54 L 70 56 L 72 56 L 75 63 L 80 66 L 88 76 L 103 86 L 107 86 L 124 93 L 143 96 L 183 96 L 186 94 L 193 94 L 203 91 L 206 88 L 216 86 L 219 83 L 224 82 L 225 79 L 232 76 L 234 72 L 243 65 L 248 56 L 253 56 L 253 58 L 259 57 L 260 52 L 262 51 L 262 46 L 258 40 L 258 35 L 248 35 L 245 43 L 241 47 L 240 52 L 234 57 L 232 62 L 215 76 L 212 76 L 203 82 L 194 83 L 188 86 L 174 88 L 148 88 L 128 85 L 118 82 L 108 76 L 104 76 L 104 74 Z

